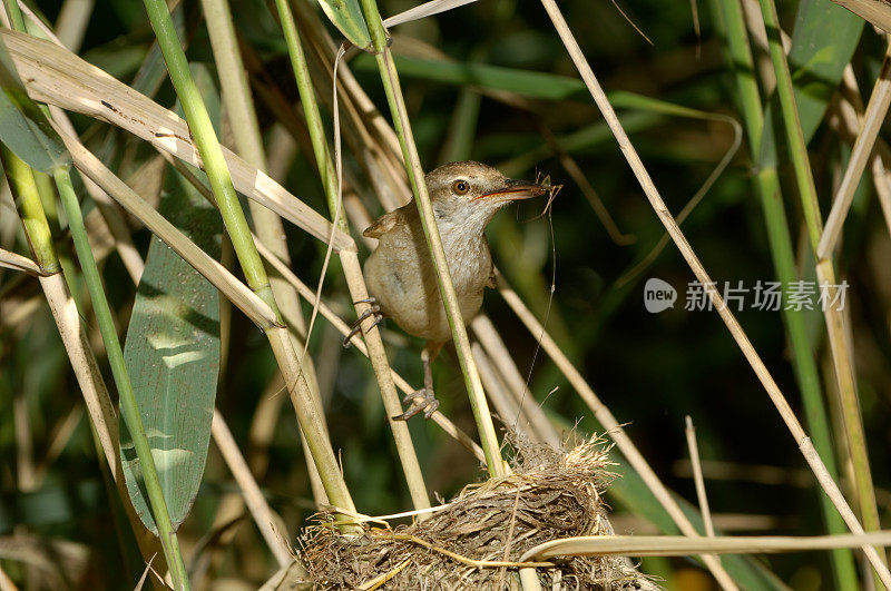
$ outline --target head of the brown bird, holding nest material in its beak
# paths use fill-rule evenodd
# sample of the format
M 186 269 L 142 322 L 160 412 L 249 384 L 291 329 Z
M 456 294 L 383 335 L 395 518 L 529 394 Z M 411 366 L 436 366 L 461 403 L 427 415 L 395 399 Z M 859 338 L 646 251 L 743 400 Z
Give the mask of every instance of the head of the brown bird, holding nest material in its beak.
M 440 166 L 425 180 L 439 225 L 458 224 L 480 232 L 509 203 L 548 193 L 542 185 L 505 178 L 491 166 L 472 160 Z

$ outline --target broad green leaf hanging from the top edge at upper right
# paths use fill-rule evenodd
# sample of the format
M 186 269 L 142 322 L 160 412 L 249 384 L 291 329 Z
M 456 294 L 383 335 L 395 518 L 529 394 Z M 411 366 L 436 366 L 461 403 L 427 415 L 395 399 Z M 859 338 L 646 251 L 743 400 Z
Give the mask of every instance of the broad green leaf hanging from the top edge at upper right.
M 789 66 L 805 141 L 823 120 L 862 31 L 863 19 L 830 0 L 802 0 L 799 4 Z

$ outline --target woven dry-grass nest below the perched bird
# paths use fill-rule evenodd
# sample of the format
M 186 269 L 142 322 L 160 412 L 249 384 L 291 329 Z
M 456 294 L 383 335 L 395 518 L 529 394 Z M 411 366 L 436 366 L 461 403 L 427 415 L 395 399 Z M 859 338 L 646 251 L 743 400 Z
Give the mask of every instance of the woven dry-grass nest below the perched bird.
M 610 535 L 601 493 L 609 473 L 603 440 L 567 454 L 515 445 L 513 474 L 466 487 L 424 521 L 342 535 L 321 515 L 302 539 L 316 589 L 509 589 L 529 549 L 576 535 Z M 501 563 L 486 564 L 486 563 Z M 652 589 L 627 559 L 569 558 L 538 568 L 547 589 Z

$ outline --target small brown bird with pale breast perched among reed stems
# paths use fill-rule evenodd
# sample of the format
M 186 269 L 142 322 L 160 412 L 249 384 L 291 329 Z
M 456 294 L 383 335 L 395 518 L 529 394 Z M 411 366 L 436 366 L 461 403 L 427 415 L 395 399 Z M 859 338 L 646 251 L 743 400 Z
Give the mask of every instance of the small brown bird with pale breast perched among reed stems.
M 461 316 L 470 322 L 482 305 L 483 289 L 496 286 L 486 226 L 509 203 L 545 195 L 549 187 L 505 178 L 474 161 L 447 164 L 425 180 Z M 394 418 L 404 421 L 421 411 L 430 418 L 439 407 L 430 364 L 452 334 L 415 204 L 384 214 L 363 234 L 379 240 L 364 266 L 376 322 L 391 317 L 407 333 L 427 339 L 421 353 L 424 387 L 403 403 L 423 400 Z

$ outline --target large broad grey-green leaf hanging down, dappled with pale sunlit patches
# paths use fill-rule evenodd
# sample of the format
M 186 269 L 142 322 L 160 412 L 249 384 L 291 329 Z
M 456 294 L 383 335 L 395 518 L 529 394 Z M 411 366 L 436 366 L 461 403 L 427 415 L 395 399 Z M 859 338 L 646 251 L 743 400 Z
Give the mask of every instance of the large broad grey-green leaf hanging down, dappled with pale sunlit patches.
M 207 90 L 209 76 L 205 69 L 195 73 L 202 93 L 214 97 L 206 102 L 218 120 L 218 99 Z M 165 180 L 159 210 L 210 256 L 219 256 L 219 214 L 174 169 Z M 195 501 L 207 459 L 219 374 L 219 295 L 156 236 L 139 282 L 124 358 L 176 529 Z M 157 532 L 139 460 L 123 421 L 120 431 L 127 489 L 143 523 Z

